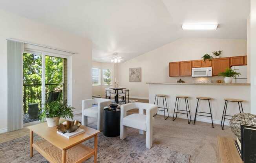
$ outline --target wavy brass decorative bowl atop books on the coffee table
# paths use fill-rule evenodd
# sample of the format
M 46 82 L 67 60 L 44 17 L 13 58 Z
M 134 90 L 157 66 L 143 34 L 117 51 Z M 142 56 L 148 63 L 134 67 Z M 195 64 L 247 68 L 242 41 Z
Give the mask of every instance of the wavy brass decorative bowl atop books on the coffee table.
M 63 134 L 65 133 L 70 133 L 74 132 L 81 126 L 81 123 L 77 120 L 75 121 L 64 121 L 63 123 L 60 123 L 57 126 L 57 129 L 62 132 Z

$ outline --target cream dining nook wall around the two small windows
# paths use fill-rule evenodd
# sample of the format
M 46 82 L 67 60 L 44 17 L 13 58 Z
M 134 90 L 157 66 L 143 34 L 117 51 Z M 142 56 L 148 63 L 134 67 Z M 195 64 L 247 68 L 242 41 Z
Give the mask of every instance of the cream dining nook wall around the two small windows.
M 92 68 L 101 69 L 101 85 L 92 86 L 92 94 L 93 95 L 101 95 L 101 97 L 105 97 L 105 88 L 110 87 L 110 86 L 114 87 L 114 85 L 115 85 L 115 78 L 117 77 L 117 64 L 92 62 Z M 112 85 L 102 85 L 103 84 L 102 69 L 111 69 Z

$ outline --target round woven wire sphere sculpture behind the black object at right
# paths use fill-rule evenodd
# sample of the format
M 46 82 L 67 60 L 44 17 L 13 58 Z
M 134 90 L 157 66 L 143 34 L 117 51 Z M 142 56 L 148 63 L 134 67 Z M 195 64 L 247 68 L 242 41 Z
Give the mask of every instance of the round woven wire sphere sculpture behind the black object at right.
M 229 121 L 229 125 L 233 134 L 241 139 L 241 123 L 247 125 L 256 125 L 256 115 L 251 113 L 238 113 L 235 114 Z

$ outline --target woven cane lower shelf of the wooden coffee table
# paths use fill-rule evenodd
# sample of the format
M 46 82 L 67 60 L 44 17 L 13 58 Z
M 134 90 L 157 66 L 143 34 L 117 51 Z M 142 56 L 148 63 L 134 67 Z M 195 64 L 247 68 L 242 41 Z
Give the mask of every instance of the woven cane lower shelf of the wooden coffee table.
M 35 148 L 44 158 L 51 163 L 62 163 L 62 150 L 58 149 L 45 139 L 33 143 Z M 66 150 L 66 163 L 82 163 L 94 155 L 94 150 L 85 145 L 78 144 Z

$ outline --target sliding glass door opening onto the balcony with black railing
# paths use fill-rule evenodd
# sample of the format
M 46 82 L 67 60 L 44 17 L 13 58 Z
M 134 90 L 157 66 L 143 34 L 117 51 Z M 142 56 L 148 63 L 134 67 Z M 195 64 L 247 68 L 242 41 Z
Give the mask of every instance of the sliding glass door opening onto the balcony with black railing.
M 37 121 L 44 103 L 67 100 L 67 62 L 65 56 L 23 53 L 23 123 Z

